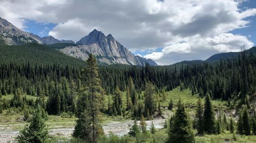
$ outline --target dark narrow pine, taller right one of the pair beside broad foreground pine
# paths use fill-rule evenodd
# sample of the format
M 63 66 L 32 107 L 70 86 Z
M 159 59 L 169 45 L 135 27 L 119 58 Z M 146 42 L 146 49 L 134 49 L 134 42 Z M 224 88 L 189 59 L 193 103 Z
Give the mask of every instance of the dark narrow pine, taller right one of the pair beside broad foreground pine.
M 211 105 L 211 100 L 209 94 L 205 97 L 205 103 L 204 103 L 204 131 L 207 134 L 214 133 L 214 127 L 215 127 L 215 113 L 214 109 Z

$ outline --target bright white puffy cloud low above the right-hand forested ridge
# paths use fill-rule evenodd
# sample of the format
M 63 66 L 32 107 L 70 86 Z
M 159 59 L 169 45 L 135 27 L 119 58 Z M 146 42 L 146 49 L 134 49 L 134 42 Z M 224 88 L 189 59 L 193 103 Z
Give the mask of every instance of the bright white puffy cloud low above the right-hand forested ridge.
M 224 33 L 214 38 L 201 38 L 195 36 L 186 38 L 187 42 L 166 46 L 161 52 L 153 52 L 143 57 L 152 59 L 159 65 L 170 65 L 180 61 L 206 60 L 215 53 L 236 52 L 245 46 L 246 49 L 253 43 L 245 36 Z M 182 57 L 182 59 L 181 59 Z

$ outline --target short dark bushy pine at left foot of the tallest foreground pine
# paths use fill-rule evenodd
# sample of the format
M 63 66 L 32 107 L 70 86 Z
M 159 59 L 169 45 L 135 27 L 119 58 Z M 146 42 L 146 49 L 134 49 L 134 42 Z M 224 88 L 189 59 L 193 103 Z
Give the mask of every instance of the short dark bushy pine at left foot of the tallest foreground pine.
M 92 140 L 92 117 L 84 110 L 76 121 L 73 136 L 87 141 Z

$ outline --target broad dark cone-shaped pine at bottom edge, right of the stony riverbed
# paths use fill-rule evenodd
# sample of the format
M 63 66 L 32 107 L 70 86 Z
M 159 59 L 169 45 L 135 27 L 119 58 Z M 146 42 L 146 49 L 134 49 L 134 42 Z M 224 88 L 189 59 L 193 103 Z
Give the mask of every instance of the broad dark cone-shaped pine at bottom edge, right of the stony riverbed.
M 177 104 L 177 110 L 173 117 L 169 130 L 168 143 L 189 143 L 194 142 L 194 133 L 191 129 L 185 107 L 181 101 Z

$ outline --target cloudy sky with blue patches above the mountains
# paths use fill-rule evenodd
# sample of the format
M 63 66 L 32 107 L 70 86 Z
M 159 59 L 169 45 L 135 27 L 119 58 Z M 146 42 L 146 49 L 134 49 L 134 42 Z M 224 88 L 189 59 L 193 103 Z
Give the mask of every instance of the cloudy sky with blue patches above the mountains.
M 254 0 L 0 0 L 0 17 L 40 37 L 75 42 L 96 28 L 158 65 L 256 43 Z

